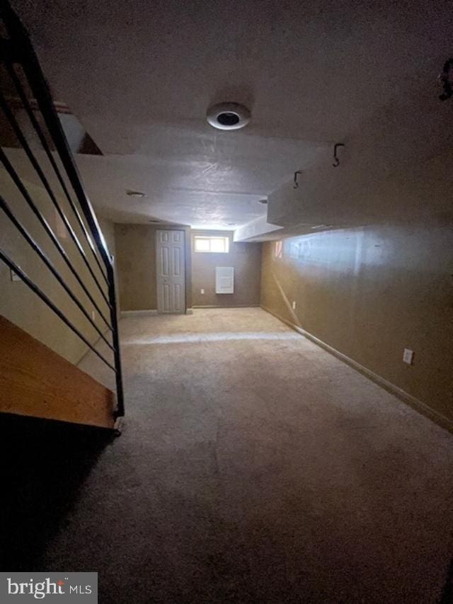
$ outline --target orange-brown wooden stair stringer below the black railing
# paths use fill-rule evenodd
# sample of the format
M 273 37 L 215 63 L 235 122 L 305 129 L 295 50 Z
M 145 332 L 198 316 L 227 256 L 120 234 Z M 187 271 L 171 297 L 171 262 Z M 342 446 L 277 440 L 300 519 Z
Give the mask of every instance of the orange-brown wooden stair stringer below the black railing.
M 113 428 L 115 395 L 0 317 L 0 412 Z

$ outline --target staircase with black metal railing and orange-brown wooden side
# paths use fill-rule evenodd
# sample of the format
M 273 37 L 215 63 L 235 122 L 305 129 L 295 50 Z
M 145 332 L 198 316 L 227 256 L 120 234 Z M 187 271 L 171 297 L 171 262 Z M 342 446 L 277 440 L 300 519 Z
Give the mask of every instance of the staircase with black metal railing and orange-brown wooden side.
M 0 314 L 1 421 L 42 423 L 28 416 L 111 429 L 124 416 L 113 256 L 63 130 L 61 103 L 8 0 L 0 1 L 0 68 L 0 261 L 4 275 L 11 270 L 11 281 L 21 281 L 7 302 L 28 288 L 115 375 L 113 394 L 18 326 L 27 321 Z M 9 317 L 8 304 L 1 312 Z M 18 301 L 22 317 L 32 304 Z M 107 357 L 93 346 L 95 332 Z

